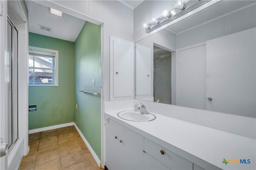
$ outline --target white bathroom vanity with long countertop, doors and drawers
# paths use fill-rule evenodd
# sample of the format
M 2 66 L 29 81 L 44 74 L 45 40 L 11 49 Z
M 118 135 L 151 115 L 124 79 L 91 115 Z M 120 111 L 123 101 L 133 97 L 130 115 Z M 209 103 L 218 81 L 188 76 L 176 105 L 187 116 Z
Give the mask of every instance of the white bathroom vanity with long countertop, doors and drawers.
M 133 108 L 105 113 L 106 166 L 110 170 L 255 169 L 254 139 L 157 113 L 152 113 L 156 116 L 152 121 L 118 117 L 126 110 Z M 250 159 L 251 163 L 226 165 L 224 158 Z

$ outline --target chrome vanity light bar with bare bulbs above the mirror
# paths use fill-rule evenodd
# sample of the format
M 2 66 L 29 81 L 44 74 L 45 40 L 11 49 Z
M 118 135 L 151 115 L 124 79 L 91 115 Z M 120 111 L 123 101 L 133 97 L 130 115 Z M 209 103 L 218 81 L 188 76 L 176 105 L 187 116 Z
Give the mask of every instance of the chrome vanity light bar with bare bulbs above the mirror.
M 210 0 L 177 0 L 176 8 L 170 11 L 165 10 L 159 18 L 153 17 L 150 23 L 144 23 L 145 31 L 146 33 L 150 33 L 154 29 L 183 16 L 207 2 L 210 2 Z

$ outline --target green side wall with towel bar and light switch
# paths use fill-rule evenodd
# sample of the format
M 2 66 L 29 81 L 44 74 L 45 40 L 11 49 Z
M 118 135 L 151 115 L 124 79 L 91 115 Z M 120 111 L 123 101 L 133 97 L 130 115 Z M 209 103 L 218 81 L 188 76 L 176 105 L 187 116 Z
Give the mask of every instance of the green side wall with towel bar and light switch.
M 75 123 L 98 156 L 100 152 L 100 26 L 86 22 L 75 42 Z M 95 79 L 95 86 L 92 86 Z

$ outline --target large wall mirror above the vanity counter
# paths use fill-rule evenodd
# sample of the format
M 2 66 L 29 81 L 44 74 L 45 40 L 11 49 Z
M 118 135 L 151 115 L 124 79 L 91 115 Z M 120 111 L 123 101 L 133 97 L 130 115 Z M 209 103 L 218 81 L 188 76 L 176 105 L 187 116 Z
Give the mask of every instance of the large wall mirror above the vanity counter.
M 136 42 L 136 99 L 255 117 L 255 11 L 221 0 Z

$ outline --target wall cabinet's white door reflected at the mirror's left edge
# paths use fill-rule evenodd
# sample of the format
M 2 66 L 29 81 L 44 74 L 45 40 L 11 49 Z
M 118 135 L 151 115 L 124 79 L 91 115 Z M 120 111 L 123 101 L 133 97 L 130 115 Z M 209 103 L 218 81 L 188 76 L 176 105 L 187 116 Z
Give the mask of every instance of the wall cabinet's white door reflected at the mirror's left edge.
M 136 99 L 150 97 L 151 49 L 136 45 Z

